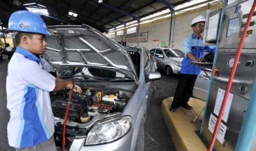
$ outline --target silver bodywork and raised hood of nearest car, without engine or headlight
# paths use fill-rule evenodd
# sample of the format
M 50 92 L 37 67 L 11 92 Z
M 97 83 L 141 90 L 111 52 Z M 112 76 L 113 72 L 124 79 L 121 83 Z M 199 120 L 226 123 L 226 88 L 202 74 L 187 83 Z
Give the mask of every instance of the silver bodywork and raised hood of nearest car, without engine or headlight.
M 154 80 L 161 78 L 161 75 L 156 71 L 156 62 L 149 50 L 139 47 L 128 47 L 126 49 L 89 26 L 52 26 L 50 29 L 55 34 L 47 38 L 48 45 L 44 57 L 53 68 L 57 71 L 68 67 L 111 69 L 126 75 L 126 79 L 129 79 L 129 81 L 126 82 L 126 79 L 121 82 L 118 82 L 118 80 L 115 82 L 100 80 L 95 82 L 94 88 L 132 91 L 130 93 L 132 95 L 130 95 L 122 112 L 99 114 L 85 124 L 68 121 L 68 126 L 86 129 L 87 132 L 84 136 L 74 136 L 72 144 L 67 149 L 144 150 L 144 144 L 141 141 L 144 141 L 143 124 L 146 111 L 152 92 L 155 90 L 156 82 Z M 66 39 L 60 38 L 61 34 L 67 36 Z M 59 44 L 59 42 L 62 42 L 62 44 Z M 79 44 L 82 46 L 85 44 L 86 49 L 79 48 Z M 135 65 L 130 57 L 130 55 L 136 53 L 140 56 L 138 65 Z M 78 84 L 85 87 L 94 86 L 94 82 L 79 82 L 79 79 Z M 130 129 L 124 136 L 110 142 L 86 144 L 86 139 L 94 127 L 97 127 L 100 123 L 107 123 L 108 120 L 124 116 L 132 119 Z M 62 126 L 64 120 L 56 117 L 56 123 L 61 123 Z

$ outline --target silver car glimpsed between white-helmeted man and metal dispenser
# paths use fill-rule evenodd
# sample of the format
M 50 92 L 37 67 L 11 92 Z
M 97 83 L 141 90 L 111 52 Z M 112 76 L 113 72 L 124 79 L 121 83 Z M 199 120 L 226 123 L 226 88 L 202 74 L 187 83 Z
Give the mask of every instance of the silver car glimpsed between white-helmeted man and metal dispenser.
M 213 53 L 206 53 L 204 56 L 206 62 L 213 63 L 214 55 Z M 206 101 L 208 88 L 210 84 L 211 78 L 211 66 L 201 68 L 201 72 L 195 81 L 194 89 L 193 89 L 193 97 L 197 97 L 200 100 Z

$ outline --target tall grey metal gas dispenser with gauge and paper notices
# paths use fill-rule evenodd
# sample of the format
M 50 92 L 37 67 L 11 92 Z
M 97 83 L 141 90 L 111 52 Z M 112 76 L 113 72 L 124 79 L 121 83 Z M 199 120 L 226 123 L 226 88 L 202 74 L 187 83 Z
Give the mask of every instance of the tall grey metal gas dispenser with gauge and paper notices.
M 222 12 L 222 26 L 220 28 L 219 48 L 215 67 L 213 69 L 212 82 L 208 95 L 208 103 L 201 125 L 200 138 L 209 145 L 213 136 L 217 117 L 220 112 L 228 79 L 238 50 L 238 45 L 248 19 L 253 0 L 227 1 Z M 221 11 L 211 11 L 206 14 L 205 44 L 216 43 L 217 29 L 219 27 Z M 256 77 L 256 11 L 250 20 L 246 38 L 244 40 L 240 59 L 233 78 L 230 94 L 217 133 L 215 150 L 235 150 L 238 136 L 243 124 L 244 115 L 253 89 Z M 256 113 L 255 113 L 256 116 Z M 256 121 L 255 121 L 256 123 Z M 254 140 L 256 144 L 256 140 Z M 253 144 L 254 144 L 253 143 Z M 256 150 L 251 148 L 251 150 Z

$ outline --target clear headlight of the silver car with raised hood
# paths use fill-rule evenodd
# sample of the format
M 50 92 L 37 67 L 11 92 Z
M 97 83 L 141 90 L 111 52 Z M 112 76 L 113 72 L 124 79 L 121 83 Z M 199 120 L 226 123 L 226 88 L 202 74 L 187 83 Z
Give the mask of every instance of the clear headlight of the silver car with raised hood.
M 88 133 L 85 145 L 113 142 L 126 135 L 132 127 L 132 118 L 128 115 L 98 123 Z

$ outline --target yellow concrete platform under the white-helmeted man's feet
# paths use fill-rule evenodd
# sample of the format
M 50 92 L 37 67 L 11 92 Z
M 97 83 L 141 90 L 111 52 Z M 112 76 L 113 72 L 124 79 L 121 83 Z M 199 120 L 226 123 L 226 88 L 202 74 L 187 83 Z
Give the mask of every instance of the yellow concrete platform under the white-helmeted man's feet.
M 177 150 L 207 150 L 204 143 L 200 140 L 195 131 L 200 129 L 203 113 L 200 114 L 195 123 L 194 118 L 198 115 L 201 109 L 204 108 L 205 101 L 196 98 L 190 98 L 188 104 L 193 107 L 193 110 L 187 110 L 179 107 L 175 112 L 170 112 L 173 97 L 166 98 L 162 101 L 162 116 L 165 124 L 168 127 L 172 141 Z

